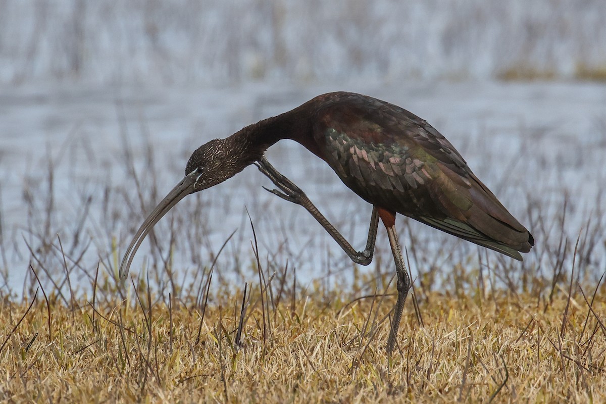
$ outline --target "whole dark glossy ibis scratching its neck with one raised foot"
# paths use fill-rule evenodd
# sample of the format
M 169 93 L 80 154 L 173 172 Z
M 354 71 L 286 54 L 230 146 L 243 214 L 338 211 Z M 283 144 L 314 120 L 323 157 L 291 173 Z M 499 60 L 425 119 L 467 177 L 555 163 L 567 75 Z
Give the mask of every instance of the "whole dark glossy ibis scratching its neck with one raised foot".
M 351 247 L 305 193 L 265 159 L 265 150 L 281 139 L 299 142 L 316 154 L 347 187 L 373 205 L 364 251 Z M 307 209 L 356 263 L 368 265 L 373 259 L 381 218 L 398 275 L 388 352 L 395 346 L 410 288 L 396 234 L 396 213 L 518 260 L 522 260 L 520 252 L 527 253 L 534 245 L 528 230 L 430 124 L 388 102 L 338 92 L 317 96 L 194 151 L 185 166 L 184 179 L 150 213 L 128 246 L 120 265 L 121 279 L 127 276 L 145 236 L 179 200 L 235 176 L 250 164 L 278 188 L 270 192 Z

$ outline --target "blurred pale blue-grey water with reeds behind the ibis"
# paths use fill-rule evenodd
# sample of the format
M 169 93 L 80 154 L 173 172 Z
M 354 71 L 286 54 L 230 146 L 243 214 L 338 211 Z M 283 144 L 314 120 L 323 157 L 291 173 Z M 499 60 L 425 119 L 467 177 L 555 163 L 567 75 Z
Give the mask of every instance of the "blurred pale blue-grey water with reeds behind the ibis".
M 48 273 L 67 266 L 84 283 L 99 262 L 112 274 L 191 151 L 335 90 L 401 105 L 447 136 L 542 236 L 524 268 L 549 273 L 565 258 L 570 271 L 585 234 L 584 274 L 599 276 L 604 44 L 602 0 L 2 0 L 0 290 L 27 289 L 30 263 Z M 370 206 L 330 168 L 290 142 L 268 158 L 362 247 Z M 245 208 L 262 255 L 296 267 L 304 282 L 351 269 L 307 212 L 261 185 L 250 167 L 179 204 L 156 231 L 164 250 L 142 248 L 135 273 L 146 254 L 168 250 L 182 268 L 208 266 L 236 229 L 219 273 L 245 271 Z M 416 224 L 401 231 L 403 245 L 415 237 L 433 251 L 413 259 L 415 276 L 447 273 L 477 250 Z M 390 265 L 382 234 L 378 248 Z

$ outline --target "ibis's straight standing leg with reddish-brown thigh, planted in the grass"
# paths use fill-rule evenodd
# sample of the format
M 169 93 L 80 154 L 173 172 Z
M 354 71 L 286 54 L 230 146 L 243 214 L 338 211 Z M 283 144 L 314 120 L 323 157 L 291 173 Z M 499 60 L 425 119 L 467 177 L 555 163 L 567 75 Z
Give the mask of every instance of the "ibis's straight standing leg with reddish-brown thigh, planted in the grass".
M 410 288 L 410 277 L 408 276 L 408 271 L 404 264 L 404 256 L 402 256 L 402 248 L 398 241 L 398 233 L 396 233 L 396 213 L 382 208 L 379 208 L 378 211 L 383 224 L 385 224 L 385 228 L 387 228 L 391 253 L 393 254 L 393 260 L 396 263 L 396 274 L 398 274 L 398 302 L 396 302 L 393 320 L 391 320 L 389 339 L 387 340 L 387 353 L 391 354 L 396 345 L 396 340 L 398 339 L 398 328 L 400 326 L 400 319 L 402 317 L 402 311 L 404 310 L 408 289 Z

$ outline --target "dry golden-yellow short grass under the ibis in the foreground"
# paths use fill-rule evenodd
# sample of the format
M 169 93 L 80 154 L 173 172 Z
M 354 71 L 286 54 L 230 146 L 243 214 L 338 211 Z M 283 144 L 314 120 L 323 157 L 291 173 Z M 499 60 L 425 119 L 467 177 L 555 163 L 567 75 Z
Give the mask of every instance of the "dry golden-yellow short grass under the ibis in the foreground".
M 73 310 L 56 296 L 48 296 L 50 303 L 38 299 L 30 309 L 28 302 L 5 301 L 0 399 L 581 403 L 606 398 L 606 303 L 594 301 L 604 286 L 597 293 L 573 286 L 570 299 L 568 291 L 558 290 L 551 302 L 505 292 L 456 299 L 430 293 L 416 299 L 422 320 L 410 299 L 399 350 L 388 358 L 388 325 L 381 319 L 395 296 L 344 301 L 339 296 L 347 296 L 345 291 L 321 290 L 294 296 L 283 282 L 272 283 L 264 293 L 253 288 L 245 297 L 221 287 L 201 304 L 195 298 L 156 301 L 144 283 L 122 301 L 107 299 L 115 291 L 96 291 Z

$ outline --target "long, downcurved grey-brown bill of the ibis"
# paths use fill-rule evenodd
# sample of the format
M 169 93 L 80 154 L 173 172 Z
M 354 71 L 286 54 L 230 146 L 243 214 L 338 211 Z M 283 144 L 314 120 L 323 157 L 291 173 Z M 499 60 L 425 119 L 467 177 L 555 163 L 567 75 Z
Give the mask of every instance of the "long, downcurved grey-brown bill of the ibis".
M 193 193 L 194 191 L 194 183 L 195 181 L 188 176 L 177 184 L 172 191 L 168 193 L 167 196 L 162 199 L 162 201 L 154 208 L 153 211 L 147 216 L 147 219 L 143 222 L 132 242 L 128 246 L 126 253 L 124 254 L 124 258 L 122 258 L 122 263 L 120 264 L 120 279 L 126 279 L 128 275 L 128 269 L 130 268 L 130 263 L 133 262 L 133 257 L 135 257 L 135 253 L 139 249 L 139 246 L 145 239 L 145 236 L 151 231 L 151 228 L 154 227 L 156 223 L 162 216 L 164 216 L 173 206 L 179 202 L 179 200 L 183 199 L 185 196 Z

